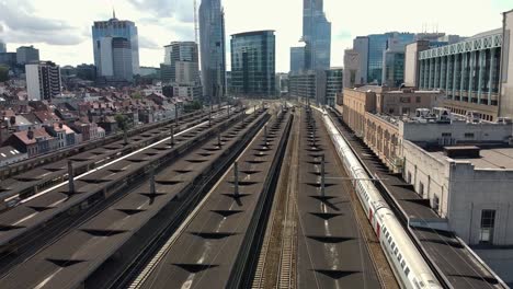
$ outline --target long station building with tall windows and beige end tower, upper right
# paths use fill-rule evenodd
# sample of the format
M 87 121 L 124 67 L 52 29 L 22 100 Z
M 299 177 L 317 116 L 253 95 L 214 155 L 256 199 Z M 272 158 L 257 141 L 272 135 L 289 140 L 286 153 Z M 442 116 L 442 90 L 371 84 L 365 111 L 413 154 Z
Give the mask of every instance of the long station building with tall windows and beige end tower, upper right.
M 410 44 L 404 78 L 418 80 L 420 90 L 444 91 L 443 106 L 453 113 L 477 112 L 490 122 L 513 117 L 512 28 L 513 10 L 503 13 L 503 27 L 463 42 L 431 49 Z

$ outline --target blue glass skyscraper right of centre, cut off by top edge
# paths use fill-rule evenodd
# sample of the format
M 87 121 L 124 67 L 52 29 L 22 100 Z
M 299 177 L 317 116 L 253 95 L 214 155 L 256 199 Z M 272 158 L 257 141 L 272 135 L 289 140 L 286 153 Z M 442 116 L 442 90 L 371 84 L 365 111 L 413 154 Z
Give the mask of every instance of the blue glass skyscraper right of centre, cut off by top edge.
M 303 41 L 306 69 L 329 69 L 331 58 L 331 23 L 323 12 L 323 0 L 304 0 Z

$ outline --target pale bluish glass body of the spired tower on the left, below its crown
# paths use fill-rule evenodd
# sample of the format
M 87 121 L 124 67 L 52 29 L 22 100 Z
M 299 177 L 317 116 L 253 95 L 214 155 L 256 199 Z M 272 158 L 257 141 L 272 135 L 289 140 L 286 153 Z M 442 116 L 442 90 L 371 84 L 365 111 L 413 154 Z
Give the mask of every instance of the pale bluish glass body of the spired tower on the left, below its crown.
M 98 41 L 98 74 L 106 81 L 132 81 L 134 78 L 132 43 L 123 37 Z

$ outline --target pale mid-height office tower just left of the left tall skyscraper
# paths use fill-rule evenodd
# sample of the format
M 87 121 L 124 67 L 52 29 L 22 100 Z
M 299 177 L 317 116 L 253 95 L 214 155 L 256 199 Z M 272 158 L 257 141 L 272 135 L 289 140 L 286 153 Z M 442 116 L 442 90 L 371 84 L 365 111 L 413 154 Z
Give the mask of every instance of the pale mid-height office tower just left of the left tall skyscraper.
M 164 62 L 161 65 L 164 83 L 200 83 L 197 44 L 172 42 L 164 46 Z

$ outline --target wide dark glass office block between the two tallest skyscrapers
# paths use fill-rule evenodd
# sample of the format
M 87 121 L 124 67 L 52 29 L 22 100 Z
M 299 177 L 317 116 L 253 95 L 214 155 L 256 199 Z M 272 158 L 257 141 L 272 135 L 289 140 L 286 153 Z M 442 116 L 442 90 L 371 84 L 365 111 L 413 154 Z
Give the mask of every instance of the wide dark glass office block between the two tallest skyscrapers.
M 274 95 L 275 49 L 274 31 L 231 35 L 231 85 L 236 95 Z

